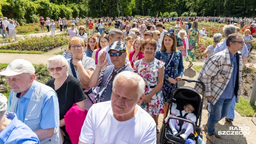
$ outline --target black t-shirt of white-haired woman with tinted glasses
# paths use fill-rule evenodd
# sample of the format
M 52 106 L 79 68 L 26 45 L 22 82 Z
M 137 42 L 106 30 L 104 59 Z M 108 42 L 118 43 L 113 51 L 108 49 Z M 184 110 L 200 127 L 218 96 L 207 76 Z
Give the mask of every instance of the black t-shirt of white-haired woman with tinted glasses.
M 51 78 L 46 82 L 46 85 L 54 89 L 54 80 L 55 78 Z M 64 84 L 62 84 L 58 90 L 55 90 L 55 92 L 58 96 L 60 120 L 64 118 L 66 112 L 74 103 L 85 100 L 84 92 L 79 80 L 70 75 L 68 75 Z

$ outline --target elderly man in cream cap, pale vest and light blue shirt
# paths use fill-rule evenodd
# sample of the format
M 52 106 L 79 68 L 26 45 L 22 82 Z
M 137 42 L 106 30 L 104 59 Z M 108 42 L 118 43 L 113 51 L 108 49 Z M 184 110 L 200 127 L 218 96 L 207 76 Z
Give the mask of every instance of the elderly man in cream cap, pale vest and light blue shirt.
M 34 66 L 23 59 L 13 60 L 0 75 L 12 88 L 8 112 L 14 112 L 38 136 L 40 144 L 59 143 L 59 105 L 56 92 L 34 80 Z

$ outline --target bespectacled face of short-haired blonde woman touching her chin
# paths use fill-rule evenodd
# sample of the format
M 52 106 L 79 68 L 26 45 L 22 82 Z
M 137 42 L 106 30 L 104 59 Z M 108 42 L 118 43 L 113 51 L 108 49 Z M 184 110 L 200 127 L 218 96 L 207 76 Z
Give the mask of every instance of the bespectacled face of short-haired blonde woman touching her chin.
M 74 42 L 73 44 L 71 44 L 70 52 L 73 58 L 77 58 L 79 60 L 82 59 L 84 55 L 84 48 L 85 46 L 82 46 L 82 42 Z

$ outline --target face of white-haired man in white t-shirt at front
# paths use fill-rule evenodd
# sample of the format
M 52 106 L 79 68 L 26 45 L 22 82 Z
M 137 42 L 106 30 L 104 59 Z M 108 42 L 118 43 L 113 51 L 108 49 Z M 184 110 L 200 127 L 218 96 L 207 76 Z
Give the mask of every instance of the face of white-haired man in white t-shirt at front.
M 113 114 L 124 116 L 130 114 L 138 103 L 138 84 L 125 82 L 123 78 L 118 78 L 111 94 L 111 106 Z M 132 91 L 131 91 L 132 90 Z

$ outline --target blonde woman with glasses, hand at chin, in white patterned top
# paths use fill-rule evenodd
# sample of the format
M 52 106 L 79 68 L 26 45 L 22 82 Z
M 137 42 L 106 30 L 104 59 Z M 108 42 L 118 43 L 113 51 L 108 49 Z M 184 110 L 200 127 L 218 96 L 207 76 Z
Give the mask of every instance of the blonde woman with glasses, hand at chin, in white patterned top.
M 92 93 L 92 89 L 89 87 L 89 80 L 95 70 L 95 61 L 84 55 L 85 44 L 82 38 L 71 38 L 68 42 L 68 49 L 73 56 L 73 58 L 68 59 L 68 74 L 80 81 L 86 94 L 85 106 L 89 110 L 92 104 L 94 104 L 94 98 L 90 98 L 88 94 Z

